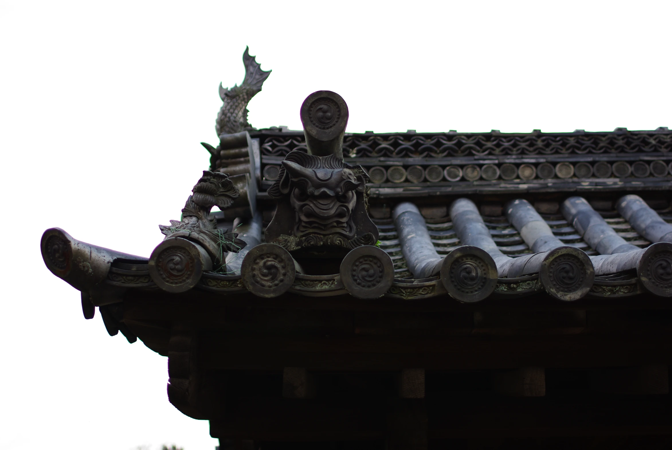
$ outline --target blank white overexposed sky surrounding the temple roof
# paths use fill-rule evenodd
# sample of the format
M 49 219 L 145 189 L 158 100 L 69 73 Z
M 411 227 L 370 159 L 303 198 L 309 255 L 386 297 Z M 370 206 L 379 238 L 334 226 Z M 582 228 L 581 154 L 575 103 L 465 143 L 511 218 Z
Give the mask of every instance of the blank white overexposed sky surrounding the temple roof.
M 44 267 L 42 232 L 149 256 L 216 145 L 217 93 L 264 70 L 257 128 L 329 89 L 349 132 L 672 128 L 670 1 L 0 0 L 0 448 L 213 450 L 167 361 Z

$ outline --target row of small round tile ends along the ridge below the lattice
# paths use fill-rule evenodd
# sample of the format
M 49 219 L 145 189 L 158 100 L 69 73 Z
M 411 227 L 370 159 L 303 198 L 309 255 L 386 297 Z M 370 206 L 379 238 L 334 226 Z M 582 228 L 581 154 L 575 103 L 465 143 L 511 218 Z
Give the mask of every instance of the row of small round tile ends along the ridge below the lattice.
M 264 168 L 264 177 L 275 175 L 277 169 Z M 267 172 L 269 172 L 267 174 Z M 521 164 L 513 165 L 505 163 L 502 165 L 486 164 L 482 166 L 466 165 L 464 167 L 450 165 L 448 167 L 440 167 L 438 165 L 431 165 L 428 167 L 422 166 L 392 166 L 392 167 L 369 167 L 367 172 L 371 183 L 422 183 L 429 181 L 431 183 L 438 183 L 439 181 L 476 181 L 478 179 L 485 179 L 493 181 L 496 179 L 514 180 L 520 179 L 523 181 L 538 179 L 569 179 L 579 178 L 585 179 L 590 177 L 595 178 L 646 178 L 665 177 L 668 173 L 672 174 L 672 163 L 667 165 L 664 161 L 653 161 L 652 163 L 644 163 L 644 161 L 636 161 L 632 165 L 626 161 L 617 161 L 616 163 L 607 163 L 606 161 L 599 161 L 591 165 L 590 163 L 558 163 L 555 166 L 550 163 L 541 163 L 539 165 Z M 277 175 L 275 175 L 277 178 Z

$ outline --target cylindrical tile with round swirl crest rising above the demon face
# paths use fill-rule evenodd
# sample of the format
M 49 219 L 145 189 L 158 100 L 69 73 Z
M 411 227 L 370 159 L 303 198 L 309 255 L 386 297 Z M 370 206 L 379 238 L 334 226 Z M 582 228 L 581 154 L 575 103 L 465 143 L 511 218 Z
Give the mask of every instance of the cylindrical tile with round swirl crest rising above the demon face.
M 347 103 L 335 92 L 317 91 L 308 95 L 301 105 L 308 154 L 333 154 L 343 161 L 343 134 L 348 114 Z

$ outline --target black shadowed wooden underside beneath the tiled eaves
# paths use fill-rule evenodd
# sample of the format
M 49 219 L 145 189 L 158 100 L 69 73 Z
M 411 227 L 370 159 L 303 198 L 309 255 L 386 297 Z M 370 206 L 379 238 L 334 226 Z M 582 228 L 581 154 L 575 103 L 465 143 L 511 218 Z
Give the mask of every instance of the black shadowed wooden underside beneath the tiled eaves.
M 611 371 L 672 364 L 672 302 L 664 298 L 559 302 L 544 294 L 460 304 L 447 296 L 129 291 L 124 321 L 169 356 L 179 393 L 171 402 L 209 419 L 221 439 L 374 445 L 400 429 L 398 420 L 411 435 L 424 430 L 429 448 L 473 439 L 672 435 L 668 395 L 603 389 Z M 313 373 L 317 396 L 283 398 L 284 367 Z M 426 397 L 398 398 L 399 371 L 415 367 L 426 371 Z M 493 390 L 493 374 L 519 367 L 546 369 L 546 396 Z

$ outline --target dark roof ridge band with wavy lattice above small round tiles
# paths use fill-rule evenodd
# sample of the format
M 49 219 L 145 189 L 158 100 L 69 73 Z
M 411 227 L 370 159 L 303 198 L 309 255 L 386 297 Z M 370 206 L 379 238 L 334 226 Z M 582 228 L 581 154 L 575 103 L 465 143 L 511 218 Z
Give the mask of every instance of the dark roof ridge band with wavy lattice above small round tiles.
M 305 139 L 254 134 L 261 148 L 260 183 L 279 176 L 290 152 L 306 152 Z M 374 196 L 394 197 L 390 189 L 413 187 L 440 195 L 445 187 L 489 183 L 491 189 L 519 189 L 526 183 L 672 185 L 672 132 L 532 134 L 351 134 L 341 152 L 346 163 L 364 167 Z M 509 186 L 510 185 L 510 186 Z M 610 186 L 610 185 L 609 185 Z M 468 186 L 467 186 L 468 187 Z M 610 189 L 611 187 L 607 187 Z

